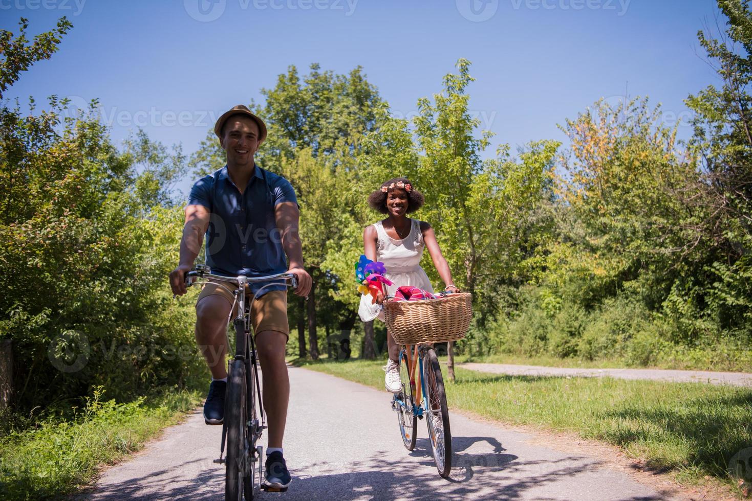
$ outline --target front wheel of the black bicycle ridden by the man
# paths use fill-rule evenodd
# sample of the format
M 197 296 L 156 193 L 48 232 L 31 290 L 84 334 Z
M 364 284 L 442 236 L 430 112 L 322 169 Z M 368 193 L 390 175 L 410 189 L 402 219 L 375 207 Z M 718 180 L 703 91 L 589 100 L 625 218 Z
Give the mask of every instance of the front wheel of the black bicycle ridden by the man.
M 225 395 L 225 427 L 227 456 L 225 457 L 225 499 L 241 501 L 252 484 L 248 443 L 245 364 L 242 360 L 230 363 Z M 251 491 L 251 496 L 253 492 Z M 247 498 L 251 499 L 251 498 Z

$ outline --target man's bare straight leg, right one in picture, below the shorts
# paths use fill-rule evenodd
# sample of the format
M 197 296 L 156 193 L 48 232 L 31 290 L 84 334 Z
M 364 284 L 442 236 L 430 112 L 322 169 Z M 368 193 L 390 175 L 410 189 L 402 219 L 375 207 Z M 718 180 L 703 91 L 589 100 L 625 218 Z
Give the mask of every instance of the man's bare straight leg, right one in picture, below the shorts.
M 290 378 L 287 376 L 285 345 L 287 336 L 276 330 L 256 335 L 256 349 L 263 374 L 264 409 L 268 421 L 269 447 L 281 448 L 290 400 Z

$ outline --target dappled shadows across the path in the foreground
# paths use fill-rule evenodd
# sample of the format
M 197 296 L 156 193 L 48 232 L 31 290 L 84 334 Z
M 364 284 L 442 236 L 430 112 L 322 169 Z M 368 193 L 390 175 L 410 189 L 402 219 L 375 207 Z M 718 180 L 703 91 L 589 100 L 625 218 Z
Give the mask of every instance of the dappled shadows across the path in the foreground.
M 493 451 L 472 453 L 478 448 Z M 555 460 L 520 461 L 506 454 L 502 444 L 493 437 L 453 438 L 453 468 L 450 478 L 443 479 L 433 469 L 433 457 L 427 439 L 419 439 L 414 451 L 405 460 L 387 460 L 385 452 L 354 463 L 332 462 L 306 465 L 316 472 L 293 476 L 290 490 L 284 494 L 256 491 L 258 499 L 278 496 L 293 499 L 520 499 L 536 497 L 533 489 L 571 479 L 583 472 L 597 469 L 600 463 L 586 457 L 568 456 Z M 407 451 L 405 451 L 407 453 Z M 416 462 L 413 458 L 420 459 Z M 199 460 L 186 461 L 174 469 L 161 469 L 129 481 L 102 486 L 96 492 L 77 499 L 224 499 L 224 469 L 203 470 L 189 482 L 180 478 L 180 469 Z M 205 460 L 208 463 L 208 460 Z M 425 466 L 431 466 L 427 470 Z M 426 474 L 427 471 L 433 474 Z M 294 472 L 293 472 L 294 473 Z M 437 492 L 440 489 L 440 493 Z M 576 492 L 562 492 L 557 498 L 577 498 Z M 651 501 L 660 497 L 625 497 Z

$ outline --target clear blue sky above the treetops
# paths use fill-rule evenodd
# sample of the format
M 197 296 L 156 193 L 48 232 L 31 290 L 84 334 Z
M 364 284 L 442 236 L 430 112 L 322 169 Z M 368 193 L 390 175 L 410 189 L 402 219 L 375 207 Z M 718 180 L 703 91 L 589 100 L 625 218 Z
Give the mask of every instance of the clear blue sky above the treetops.
M 462 57 L 494 143 L 564 140 L 557 123 L 625 91 L 662 103 L 686 137 L 684 98 L 718 82 L 696 38 L 716 14 L 711 0 L 0 0 L 2 29 L 22 16 L 32 34 L 62 15 L 74 24 L 8 98 L 99 98 L 116 140 L 141 125 L 186 152 L 212 117 L 262 101 L 288 65 L 361 65 L 411 116 Z

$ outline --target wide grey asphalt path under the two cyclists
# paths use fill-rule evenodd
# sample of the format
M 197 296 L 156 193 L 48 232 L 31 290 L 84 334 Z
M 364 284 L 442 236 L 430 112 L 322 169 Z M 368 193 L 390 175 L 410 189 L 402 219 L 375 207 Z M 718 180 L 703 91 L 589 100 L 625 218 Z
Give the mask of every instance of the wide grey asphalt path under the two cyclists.
M 287 493 L 257 499 L 669 499 L 603 458 L 562 452 L 540 436 L 450 410 L 453 469 L 436 472 L 424 421 L 402 445 L 390 395 L 323 373 L 290 368 Z M 459 386 L 453 391 L 461 391 Z M 200 411 L 143 451 L 105 470 L 83 499 L 223 499 L 221 427 Z

